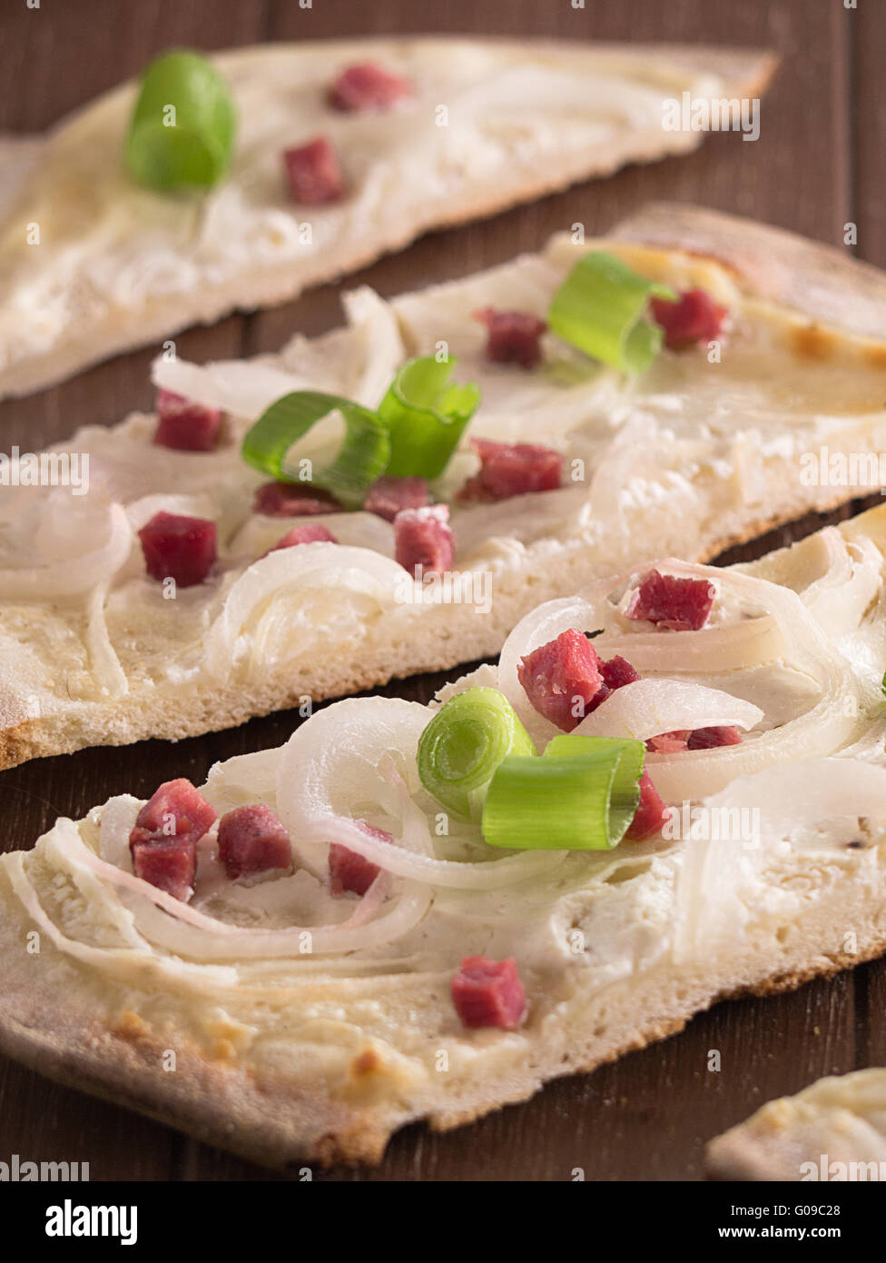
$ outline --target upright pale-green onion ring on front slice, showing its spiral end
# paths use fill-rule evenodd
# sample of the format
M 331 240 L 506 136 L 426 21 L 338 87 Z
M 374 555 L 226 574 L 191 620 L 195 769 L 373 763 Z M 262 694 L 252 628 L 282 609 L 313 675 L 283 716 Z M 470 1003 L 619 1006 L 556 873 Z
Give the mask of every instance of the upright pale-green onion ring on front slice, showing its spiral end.
M 442 706 L 422 733 L 422 784 L 462 818 L 478 820 L 486 787 L 501 760 L 538 759 L 526 729 L 495 688 L 467 688 Z

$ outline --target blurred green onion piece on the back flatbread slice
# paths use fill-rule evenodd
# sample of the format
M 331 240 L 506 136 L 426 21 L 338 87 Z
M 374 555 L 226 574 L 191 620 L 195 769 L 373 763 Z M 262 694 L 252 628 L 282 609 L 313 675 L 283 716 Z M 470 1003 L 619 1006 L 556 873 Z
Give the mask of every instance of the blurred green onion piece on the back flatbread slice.
M 149 188 L 211 188 L 230 164 L 235 128 L 233 100 L 215 66 L 199 53 L 164 53 L 141 80 L 126 167 Z

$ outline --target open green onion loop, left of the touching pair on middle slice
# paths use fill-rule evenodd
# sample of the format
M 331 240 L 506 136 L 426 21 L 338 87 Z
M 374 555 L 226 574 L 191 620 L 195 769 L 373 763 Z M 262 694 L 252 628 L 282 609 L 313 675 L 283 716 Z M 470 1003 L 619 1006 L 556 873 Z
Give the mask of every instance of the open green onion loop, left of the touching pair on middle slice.
M 286 453 L 293 443 L 329 413 L 345 419 L 345 441 L 331 465 L 313 470 L 310 482 L 326 488 L 343 504 L 357 508 L 366 489 L 385 472 L 390 456 L 387 426 L 369 408 L 321 394 L 318 390 L 294 390 L 265 408 L 244 438 L 242 457 L 247 465 L 285 482 L 302 481 L 288 472 Z

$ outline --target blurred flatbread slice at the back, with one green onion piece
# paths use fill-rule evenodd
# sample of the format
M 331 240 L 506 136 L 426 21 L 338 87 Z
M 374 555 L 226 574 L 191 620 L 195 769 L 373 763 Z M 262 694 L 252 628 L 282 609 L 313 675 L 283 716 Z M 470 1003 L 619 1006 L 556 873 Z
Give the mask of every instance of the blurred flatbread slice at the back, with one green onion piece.
M 665 126 L 665 101 L 759 97 L 776 64 L 752 49 L 444 37 L 271 44 L 212 61 L 240 124 L 228 177 L 202 197 L 127 177 L 131 83 L 62 121 L 35 168 L 21 147 L 0 149 L 1 183 L 21 184 L 0 226 L 0 397 L 294 298 L 428 229 L 685 153 L 703 133 Z M 365 62 L 414 95 L 385 111 L 331 109 L 336 77 Z M 283 150 L 318 135 L 336 148 L 345 195 L 294 205 Z

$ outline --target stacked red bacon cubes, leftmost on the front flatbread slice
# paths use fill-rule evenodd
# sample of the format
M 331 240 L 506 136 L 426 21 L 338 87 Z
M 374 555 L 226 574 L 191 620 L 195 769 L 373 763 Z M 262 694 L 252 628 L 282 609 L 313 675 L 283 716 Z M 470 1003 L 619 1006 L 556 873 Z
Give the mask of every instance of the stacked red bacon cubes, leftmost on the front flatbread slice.
M 194 888 L 197 842 L 216 815 L 189 781 L 167 781 L 135 817 L 129 835 L 135 875 L 187 903 Z

